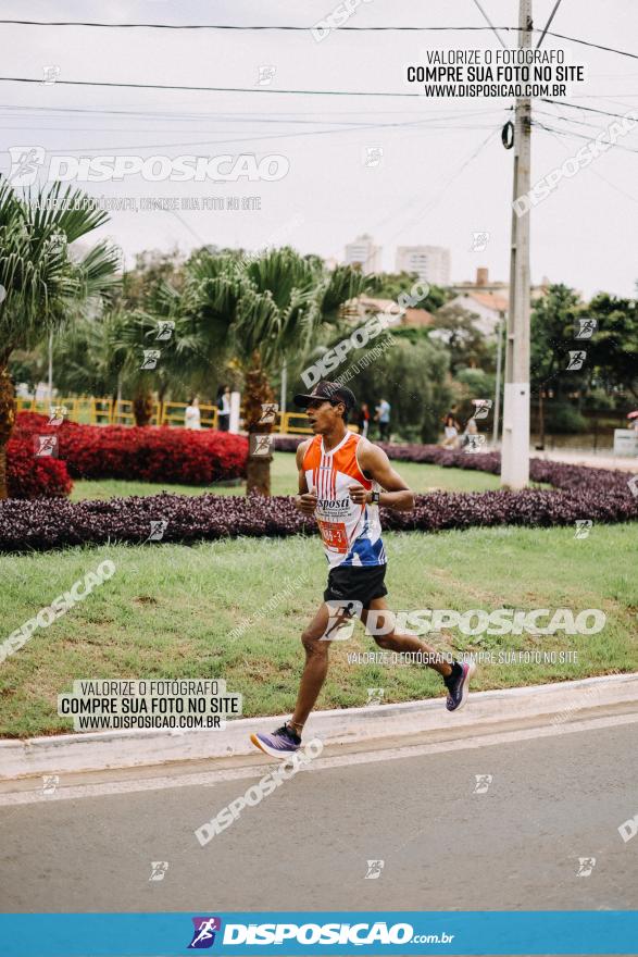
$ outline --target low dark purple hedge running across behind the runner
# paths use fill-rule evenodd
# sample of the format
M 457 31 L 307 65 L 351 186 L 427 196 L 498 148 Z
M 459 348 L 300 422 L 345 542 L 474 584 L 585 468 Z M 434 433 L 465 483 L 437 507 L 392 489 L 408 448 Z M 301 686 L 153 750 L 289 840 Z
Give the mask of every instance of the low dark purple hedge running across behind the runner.
M 292 451 L 299 442 L 285 436 L 277 439 L 276 446 Z M 498 452 L 468 455 L 420 445 L 384 448 L 398 461 L 431 462 L 496 474 L 500 470 Z M 533 459 L 530 474 L 533 481 L 553 488 L 434 492 L 417 495 L 412 512 L 381 509 L 381 522 L 386 529 L 434 532 L 477 525 L 570 525 L 576 519 L 638 519 L 638 497 L 631 494 L 627 473 Z M 166 523 L 162 542 L 286 536 L 316 531 L 314 521 L 302 517 L 289 496 L 163 494 L 79 502 L 9 499 L 0 501 L 0 550 L 45 550 L 108 542 L 139 544 L 149 538 L 153 521 Z

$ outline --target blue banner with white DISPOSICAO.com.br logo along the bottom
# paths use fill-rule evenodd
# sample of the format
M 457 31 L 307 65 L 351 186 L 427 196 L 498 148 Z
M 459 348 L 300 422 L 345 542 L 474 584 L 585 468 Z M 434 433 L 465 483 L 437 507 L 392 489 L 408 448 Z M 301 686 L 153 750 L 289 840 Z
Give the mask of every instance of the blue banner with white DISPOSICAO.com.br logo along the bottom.
M 3 957 L 638 954 L 636 910 L 2 913 Z

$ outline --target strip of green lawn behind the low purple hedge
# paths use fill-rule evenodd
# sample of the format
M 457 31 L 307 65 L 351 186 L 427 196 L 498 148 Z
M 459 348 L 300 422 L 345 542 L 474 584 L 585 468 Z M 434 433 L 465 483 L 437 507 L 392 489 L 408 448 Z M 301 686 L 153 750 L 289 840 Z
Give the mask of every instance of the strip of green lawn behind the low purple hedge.
M 414 492 L 433 492 L 447 488 L 451 492 L 486 492 L 498 488 L 500 478 L 487 472 L 470 472 L 463 469 L 441 469 L 440 465 L 425 465 L 416 462 L 396 462 L 399 473 Z M 273 495 L 295 495 L 297 493 L 297 470 L 291 452 L 275 452 L 271 467 Z M 176 495 L 201 495 L 214 492 L 220 495 L 243 495 L 241 485 L 178 485 L 174 483 L 128 482 L 118 478 L 99 481 L 76 481 L 71 494 L 72 501 L 84 498 L 113 498 L 122 495 L 158 495 L 173 492 Z

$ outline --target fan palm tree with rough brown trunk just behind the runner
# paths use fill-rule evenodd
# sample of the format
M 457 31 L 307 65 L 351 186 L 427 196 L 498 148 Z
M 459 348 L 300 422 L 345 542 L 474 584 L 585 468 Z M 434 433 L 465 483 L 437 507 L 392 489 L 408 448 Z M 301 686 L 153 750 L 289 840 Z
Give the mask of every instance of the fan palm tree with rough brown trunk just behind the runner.
M 343 303 L 371 285 L 350 266 L 325 270 L 316 257 L 286 247 L 246 261 L 233 254 L 196 253 L 186 264 L 175 355 L 214 370 L 229 357 L 245 378 L 245 421 L 249 435 L 271 432 L 260 422 L 262 405 L 273 401 L 271 376 L 290 357 L 307 356 L 325 327 L 339 323 Z M 247 492 L 270 495 L 271 456 L 250 456 Z

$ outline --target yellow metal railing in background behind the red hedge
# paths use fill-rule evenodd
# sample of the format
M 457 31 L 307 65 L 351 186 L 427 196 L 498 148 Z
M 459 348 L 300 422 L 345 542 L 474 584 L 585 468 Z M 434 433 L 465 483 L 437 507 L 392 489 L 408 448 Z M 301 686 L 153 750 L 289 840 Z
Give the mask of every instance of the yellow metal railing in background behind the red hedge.
M 130 399 L 113 401 L 112 398 L 73 396 L 55 398 L 52 402 L 48 399 L 38 399 L 38 401 L 16 399 L 16 405 L 18 412 L 39 412 L 41 415 L 49 415 L 52 409 L 61 407 L 66 410 L 63 413 L 65 419 L 86 425 L 133 425 L 135 423 Z M 186 402 L 153 401 L 150 424 L 183 426 L 186 408 Z M 217 407 L 200 406 L 199 410 L 202 426 L 216 428 L 218 425 Z M 283 435 L 312 435 L 305 412 L 277 412 L 273 431 Z

